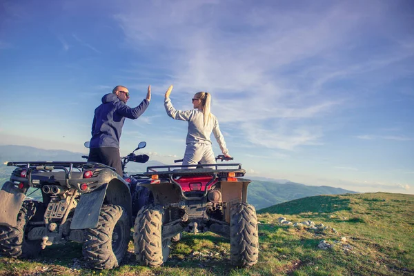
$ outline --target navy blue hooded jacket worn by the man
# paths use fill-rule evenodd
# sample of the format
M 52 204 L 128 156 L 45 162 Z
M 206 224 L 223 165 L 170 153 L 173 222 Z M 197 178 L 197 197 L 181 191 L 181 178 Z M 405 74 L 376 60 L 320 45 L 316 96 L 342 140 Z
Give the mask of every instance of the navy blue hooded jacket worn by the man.
M 150 102 L 144 99 L 136 108 L 130 108 L 113 93 L 103 96 L 102 104 L 95 109 L 90 148 L 119 148 L 125 118 L 137 119 L 149 104 Z

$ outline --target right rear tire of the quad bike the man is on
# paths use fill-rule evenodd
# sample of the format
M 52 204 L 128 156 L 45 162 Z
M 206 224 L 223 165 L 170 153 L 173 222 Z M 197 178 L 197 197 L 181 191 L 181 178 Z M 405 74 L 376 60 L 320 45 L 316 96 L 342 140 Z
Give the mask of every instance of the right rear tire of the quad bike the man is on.
M 97 228 L 86 229 L 83 257 L 97 269 L 119 266 L 130 239 L 128 213 L 118 205 L 103 205 Z

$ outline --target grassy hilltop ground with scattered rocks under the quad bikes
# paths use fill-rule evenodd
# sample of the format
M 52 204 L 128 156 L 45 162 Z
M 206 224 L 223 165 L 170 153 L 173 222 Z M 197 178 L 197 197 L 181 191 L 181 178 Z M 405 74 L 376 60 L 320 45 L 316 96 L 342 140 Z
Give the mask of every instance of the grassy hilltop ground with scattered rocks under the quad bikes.
M 0 275 L 414 275 L 413 195 L 307 197 L 258 213 L 260 255 L 250 269 L 230 266 L 226 239 L 204 234 L 184 235 L 159 268 L 137 266 L 130 243 L 121 267 L 88 270 L 81 246 L 68 244 L 30 261 L 0 257 Z M 309 220 L 315 226 L 287 222 Z M 322 240 L 332 248 L 319 249 Z

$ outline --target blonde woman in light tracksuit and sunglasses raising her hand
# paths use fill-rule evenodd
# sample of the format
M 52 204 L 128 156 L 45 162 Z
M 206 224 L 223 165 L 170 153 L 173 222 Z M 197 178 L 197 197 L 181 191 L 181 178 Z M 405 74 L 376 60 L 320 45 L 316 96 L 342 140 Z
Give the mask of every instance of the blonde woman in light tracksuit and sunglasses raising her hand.
M 164 106 L 168 116 L 172 119 L 188 121 L 188 133 L 186 139 L 186 152 L 184 153 L 183 165 L 215 164 L 213 148 L 211 146 L 211 132 L 213 132 L 221 152 L 225 157 L 228 155 L 226 142 L 221 135 L 217 117 L 210 113 L 211 95 L 208 92 L 197 92 L 194 95 L 193 110 L 175 110 L 170 100 L 172 86 L 166 92 Z

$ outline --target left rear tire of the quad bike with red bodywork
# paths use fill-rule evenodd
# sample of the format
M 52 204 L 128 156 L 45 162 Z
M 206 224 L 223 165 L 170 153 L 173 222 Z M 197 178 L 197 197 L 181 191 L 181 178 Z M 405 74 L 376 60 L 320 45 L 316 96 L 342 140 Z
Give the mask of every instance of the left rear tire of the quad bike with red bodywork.
M 134 226 L 134 248 L 143 266 L 161 266 L 170 255 L 171 239 L 162 239 L 164 209 L 150 204 L 139 210 Z

